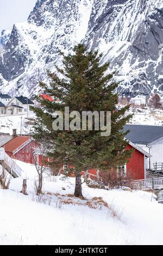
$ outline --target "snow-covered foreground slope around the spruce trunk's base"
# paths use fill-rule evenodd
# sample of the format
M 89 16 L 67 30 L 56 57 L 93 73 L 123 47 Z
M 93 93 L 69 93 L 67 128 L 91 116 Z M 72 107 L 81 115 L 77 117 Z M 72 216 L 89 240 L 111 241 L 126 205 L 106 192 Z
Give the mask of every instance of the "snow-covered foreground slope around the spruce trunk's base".
M 85 200 L 72 197 L 74 178 L 45 176 L 34 192 L 35 167 L 16 161 L 27 174 L 0 190 L 0 245 L 162 245 L 163 205 L 152 193 L 98 190 L 83 184 Z

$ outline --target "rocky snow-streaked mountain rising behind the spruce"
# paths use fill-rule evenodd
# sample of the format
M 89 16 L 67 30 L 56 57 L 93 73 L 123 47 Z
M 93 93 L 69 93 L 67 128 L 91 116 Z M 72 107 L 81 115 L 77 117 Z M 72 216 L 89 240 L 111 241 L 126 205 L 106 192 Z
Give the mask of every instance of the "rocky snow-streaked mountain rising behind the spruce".
M 162 0 L 38 0 L 0 57 L 2 92 L 35 94 L 46 69 L 77 42 L 104 53 L 125 94 L 163 95 Z

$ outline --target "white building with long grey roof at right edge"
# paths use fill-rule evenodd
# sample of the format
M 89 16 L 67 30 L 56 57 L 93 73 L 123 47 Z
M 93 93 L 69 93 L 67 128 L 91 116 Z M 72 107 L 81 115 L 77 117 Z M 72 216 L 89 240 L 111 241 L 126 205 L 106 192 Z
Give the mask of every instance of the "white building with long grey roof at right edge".
M 130 130 L 126 136 L 130 142 L 152 155 L 147 159 L 147 169 L 154 169 L 156 162 L 163 163 L 163 126 L 126 125 L 124 130 Z

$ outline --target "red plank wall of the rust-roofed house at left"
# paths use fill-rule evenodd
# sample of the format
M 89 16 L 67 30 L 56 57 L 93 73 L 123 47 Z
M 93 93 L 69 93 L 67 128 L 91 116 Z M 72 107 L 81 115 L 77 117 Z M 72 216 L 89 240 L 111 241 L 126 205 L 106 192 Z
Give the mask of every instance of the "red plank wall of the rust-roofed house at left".
M 15 155 L 12 153 L 6 151 L 6 153 L 19 161 L 25 162 L 25 163 L 34 163 L 33 160 L 33 151 L 37 148 L 37 143 L 35 141 L 29 142 L 27 145 L 25 145 L 22 149 L 20 149 Z

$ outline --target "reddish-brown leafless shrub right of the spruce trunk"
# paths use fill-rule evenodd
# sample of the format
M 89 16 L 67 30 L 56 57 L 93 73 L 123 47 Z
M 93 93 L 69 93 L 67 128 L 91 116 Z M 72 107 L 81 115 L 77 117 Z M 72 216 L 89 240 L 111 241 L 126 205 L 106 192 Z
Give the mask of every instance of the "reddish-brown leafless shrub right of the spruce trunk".
M 122 172 L 117 172 L 113 169 L 101 174 L 101 182 L 110 190 L 125 186 L 133 188 L 133 179 L 131 179 L 129 174 L 124 175 Z

